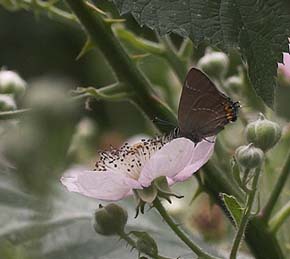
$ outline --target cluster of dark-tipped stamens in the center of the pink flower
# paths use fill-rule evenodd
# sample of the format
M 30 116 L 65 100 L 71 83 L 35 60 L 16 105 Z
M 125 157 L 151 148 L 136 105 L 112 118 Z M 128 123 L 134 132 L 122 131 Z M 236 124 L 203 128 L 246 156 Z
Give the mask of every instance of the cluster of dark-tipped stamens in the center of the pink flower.
M 171 135 L 158 136 L 152 139 L 142 139 L 134 145 L 125 143 L 121 148 L 100 152 L 95 171 L 108 170 L 127 174 L 138 180 L 141 170 L 147 160 L 172 139 Z

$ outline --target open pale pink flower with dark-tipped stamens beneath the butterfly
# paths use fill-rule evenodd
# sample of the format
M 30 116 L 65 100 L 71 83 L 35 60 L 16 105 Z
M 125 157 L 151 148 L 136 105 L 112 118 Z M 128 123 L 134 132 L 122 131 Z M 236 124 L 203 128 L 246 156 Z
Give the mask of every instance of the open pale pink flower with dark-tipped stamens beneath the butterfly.
M 150 186 L 160 176 L 168 183 L 184 181 L 211 157 L 214 143 L 195 145 L 186 138 L 157 137 L 100 153 L 93 171 L 71 168 L 61 178 L 69 191 L 100 200 L 120 200 L 133 189 Z

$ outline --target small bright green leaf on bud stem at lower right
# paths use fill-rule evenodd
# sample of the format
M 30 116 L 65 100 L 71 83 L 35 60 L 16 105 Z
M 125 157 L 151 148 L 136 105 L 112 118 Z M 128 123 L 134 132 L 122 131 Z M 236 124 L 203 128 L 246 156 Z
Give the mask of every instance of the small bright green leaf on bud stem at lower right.
M 221 197 L 226 205 L 228 212 L 231 214 L 231 217 L 235 222 L 235 226 L 238 227 L 241 223 L 244 209 L 241 207 L 234 196 L 222 193 Z

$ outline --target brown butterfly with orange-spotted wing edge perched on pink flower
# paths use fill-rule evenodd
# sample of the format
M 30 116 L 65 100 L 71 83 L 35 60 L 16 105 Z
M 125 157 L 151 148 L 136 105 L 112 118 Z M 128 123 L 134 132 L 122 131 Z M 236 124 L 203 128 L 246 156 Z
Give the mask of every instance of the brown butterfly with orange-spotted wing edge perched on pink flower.
M 239 102 L 221 93 L 200 70 L 188 72 L 178 108 L 178 135 L 198 143 L 237 119 Z

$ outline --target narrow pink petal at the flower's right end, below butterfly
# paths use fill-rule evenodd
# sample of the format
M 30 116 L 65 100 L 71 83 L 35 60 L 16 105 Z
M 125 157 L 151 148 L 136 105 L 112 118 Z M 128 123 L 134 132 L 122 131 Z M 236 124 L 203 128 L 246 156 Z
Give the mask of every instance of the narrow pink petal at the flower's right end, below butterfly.
M 210 141 L 214 141 L 215 138 L 212 138 Z M 201 168 L 212 156 L 214 151 L 214 143 L 209 141 L 199 142 L 194 152 L 192 153 L 192 160 L 190 165 L 186 166 L 181 172 L 173 177 L 173 181 L 182 182 L 192 176 L 199 168 Z

